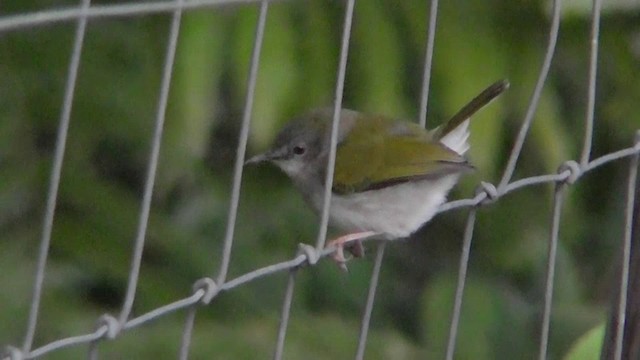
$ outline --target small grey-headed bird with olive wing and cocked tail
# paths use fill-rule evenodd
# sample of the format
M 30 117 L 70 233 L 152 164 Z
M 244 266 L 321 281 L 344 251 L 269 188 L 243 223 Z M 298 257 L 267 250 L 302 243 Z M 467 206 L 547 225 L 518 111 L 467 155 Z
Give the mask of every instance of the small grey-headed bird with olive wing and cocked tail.
M 344 248 L 358 257 L 361 241 L 407 238 L 431 220 L 460 176 L 475 168 L 469 150 L 471 116 L 509 87 L 484 89 L 444 124 L 427 130 L 415 122 L 340 109 L 329 224 L 346 234 L 327 242 L 346 270 Z M 289 121 L 264 153 L 245 164 L 271 162 L 292 180 L 306 203 L 324 203 L 334 109 L 313 109 Z

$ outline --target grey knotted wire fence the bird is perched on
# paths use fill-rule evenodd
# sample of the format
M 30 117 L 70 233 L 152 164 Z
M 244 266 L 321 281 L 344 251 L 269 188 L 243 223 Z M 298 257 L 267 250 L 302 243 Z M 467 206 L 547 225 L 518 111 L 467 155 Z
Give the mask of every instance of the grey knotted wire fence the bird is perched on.
M 140 264 L 143 256 L 143 248 L 147 232 L 147 224 L 149 220 L 149 212 L 154 188 L 154 180 L 156 177 L 156 169 L 158 166 L 158 157 L 161 148 L 161 138 L 164 128 L 165 112 L 167 108 L 167 99 L 169 89 L 171 87 L 171 77 L 178 43 L 178 35 L 180 32 L 180 21 L 183 12 L 193 11 L 207 7 L 217 7 L 225 4 L 252 4 L 259 5 L 259 17 L 256 25 L 255 42 L 253 44 L 253 52 L 249 69 L 248 86 L 245 99 L 244 112 L 242 116 L 242 125 L 239 135 L 239 143 L 236 152 L 236 161 L 233 176 L 233 186 L 231 190 L 231 203 L 228 212 L 227 230 L 224 237 L 223 249 L 221 252 L 220 268 L 215 276 L 205 277 L 195 282 L 193 292 L 188 296 L 177 299 L 174 302 L 153 309 L 145 314 L 137 317 L 131 317 L 132 306 L 136 298 L 136 289 L 138 285 L 138 275 L 140 272 Z M 259 3 L 259 4 L 254 4 Z M 56 22 L 76 22 L 75 40 L 72 50 L 71 60 L 68 67 L 68 75 L 66 80 L 66 90 L 64 103 L 60 114 L 58 135 L 55 145 L 55 154 L 53 158 L 53 168 L 50 175 L 49 190 L 46 202 L 46 212 L 43 220 L 42 235 L 40 240 L 40 248 L 36 262 L 35 278 L 33 281 L 33 296 L 30 305 L 30 311 L 27 321 L 27 331 L 24 336 L 24 342 L 21 346 L 7 346 L 4 359 L 34 359 L 50 354 L 57 350 L 67 347 L 89 345 L 89 358 L 97 358 L 99 348 L 97 344 L 103 340 L 113 340 L 122 333 L 137 328 L 138 326 L 147 324 L 151 321 L 165 317 L 168 314 L 179 310 L 186 310 L 186 321 L 183 329 L 182 342 L 180 347 L 180 359 L 187 359 L 189 356 L 189 346 L 193 332 L 194 321 L 197 316 L 197 309 L 201 306 L 209 304 L 221 292 L 230 291 L 236 287 L 246 285 L 247 283 L 257 281 L 266 276 L 270 276 L 280 272 L 289 272 L 288 283 L 282 302 L 280 326 L 275 345 L 273 358 L 281 359 L 285 346 L 287 327 L 291 312 L 291 304 L 295 291 L 296 274 L 303 271 L 306 265 L 314 265 L 320 259 L 332 254 L 334 249 L 325 249 L 325 238 L 327 235 L 328 225 L 328 207 L 331 196 L 331 183 L 333 180 L 333 168 L 336 153 L 336 130 L 339 109 L 342 107 L 342 96 L 344 90 L 345 72 L 347 66 L 347 54 L 349 50 L 351 24 L 354 12 L 354 0 L 348 0 L 344 10 L 344 25 L 342 33 L 342 42 L 340 48 L 340 58 L 336 75 L 336 87 L 334 98 L 333 113 L 333 131 L 331 138 L 331 157 L 328 164 L 326 183 L 326 191 L 324 194 L 325 207 L 322 211 L 320 231 L 316 239 L 315 246 L 300 244 L 298 254 L 289 260 L 272 264 L 263 268 L 255 269 L 237 278 L 228 279 L 227 272 L 229 269 L 229 259 L 234 243 L 234 231 L 236 217 L 238 213 L 238 203 L 240 196 L 240 184 L 243 172 L 243 163 L 245 159 L 245 151 L 251 123 L 251 114 L 253 107 L 253 98 L 256 85 L 256 78 L 260 63 L 260 54 L 262 51 L 262 41 L 265 33 L 265 22 L 267 19 L 268 9 L 271 1 L 250 1 L 250 0 L 176 0 L 176 1 L 157 1 L 144 3 L 123 3 L 117 5 L 92 5 L 90 0 L 82 0 L 77 7 L 67 9 L 51 9 L 42 10 L 40 12 L 26 13 L 22 15 L 11 15 L 0 17 L 0 31 L 18 31 L 24 28 L 32 28 L 38 26 L 49 25 Z M 623 266 L 620 283 L 620 293 L 627 293 L 629 278 L 629 259 L 631 244 L 631 227 L 634 206 L 634 193 L 637 178 L 638 158 L 640 156 L 640 133 L 636 134 L 634 143 L 628 148 L 620 149 L 613 153 L 606 154 L 602 157 L 591 158 L 591 142 L 594 124 L 594 104 L 596 99 L 596 74 L 598 69 L 598 39 L 599 39 L 599 23 L 600 23 L 601 1 L 593 1 L 592 10 L 592 33 L 591 33 L 591 53 L 590 53 L 590 70 L 588 74 L 588 99 L 586 117 L 584 123 L 584 140 L 580 159 L 577 161 L 568 160 L 561 164 L 558 172 L 555 174 L 544 174 L 513 180 L 513 173 L 518 164 L 518 159 L 525 141 L 529 128 L 534 118 L 536 108 L 542 93 L 542 89 L 546 83 L 549 68 L 554 58 L 556 49 L 556 41 L 559 34 L 559 23 L 561 16 L 561 1 L 553 1 L 553 10 L 551 15 L 551 23 L 549 28 L 548 43 L 546 55 L 540 67 L 538 80 L 533 89 L 529 106 L 522 121 L 520 131 L 515 139 L 511 154 L 504 173 L 498 185 L 482 182 L 475 196 L 468 199 L 451 201 L 444 204 L 439 212 L 450 211 L 459 208 L 469 208 L 467 222 L 464 231 L 463 246 L 460 255 L 460 265 L 458 273 L 458 283 L 455 292 L 455 301 L 453 304 L 453 315 L 450 323 L 449 340 L 446 350 L 446 358 L 453 359 L 456 349 L 456 337 L 458 331 L 458 323 L 460 320 L 461 305 L 464 297 L 465 281 L 467 279 L 467 267 L 469 263 L 469 255 L 471 243 L 473 240 L 474 225 L 476 222 L 476 214 L 484 205 L 499 201 L 503 196 L 514 191 L 521 190 L 541 184 L 555 184 L 553 197 L 553 210 L 551 214 L 551 228 L 549 234 L 549 250 L 548 250 L 548 267 L 546 277 L 546 287 L 544 293 L 544 311 L 541 321 L 541 329 L 539 333 L 539 359 L 547 358 L 547 348 L 550 328 L 550 314 L 552 310 L 552 299 L 554 290 L 554 274 L 556 263 L 556 250 L 558 244 L 558 231 L 560 228 L 560 219 L 562 216 L 562 206 L 564 196 L 567 189 L 579 181 L 583 176 L 592 170 L 614 161 L 620 161 L 629 158 L 629 175 L 628 189 L 626 194 L 625 208 L 625 229 L 622 243 L 623 248 Z M 151 154 L 148 161 L 147 177 L 144 186 L 144 196 L 142 199 L 138 229 L 135 242 L 132 249 L 131 268 L 129 271 L 129 279 L 123 306 L 118 315 L 106 314 L 100 317 L 98 325 L 94 331 L 86 334 L 69 336 L 57 340 L 53 340 L 38 348 L 33 348 L 34 335 L 38 325 L 40 301 L 42 298 L 43 281 L 47 268 L 47 258 L 51 243 L 51 232 L 54 223 L 54 215 L 56 210 L 56 200 L 58 195 L 58 187 L 60 184 L 60 174 L 65 156 L 65 145 L 67 143 L 67 134 L 69 129 L 71 110 L 74 102 L 74 89 L 78 74 L 80 59 L 82 56 L 84 36 L 86 33 L 87 23 L 96 18 L 113 18 L 113 17 L 132 17 L 142 16 L 152 13 L 171 13 L 172 21 L 170 25 L 170 35 L 166 46 L 165 65 L 162 75 L 160 95 L 157 102 L 155 129 L 152 138 Z M 424 61 L 424 78 L 423 88 L 420 102 L 419 120 L 422 125 L 426 122 L 427 99 L 429 94 L 429 83 L 431 77 L 432 58 L 434 50 L 434 39 L 436 32 L 436 20 L 438 13 L 438 1 L 432 0 L 429 10 L 429 26 L 427 35 L 427 46 Z M 366 299 L 366 306 L 362 315 L 362 323 L 360 336 L 358 341 L 356 359 L 363 359 L 366 349 L 367 335 L 371 321 L 371 313 L 374 307 L 376 296 L 376 287 L 382 262 L 384 258 L 386 244 L 380 243 L 377 247 L 373 272 L 371 274 L 369 291 Z M 617 307 L 618 323 L 615 334 L 615 359 L 622 358 L 622 333 L 625 325 L 625 309 L 626 296 L 620 296 Z

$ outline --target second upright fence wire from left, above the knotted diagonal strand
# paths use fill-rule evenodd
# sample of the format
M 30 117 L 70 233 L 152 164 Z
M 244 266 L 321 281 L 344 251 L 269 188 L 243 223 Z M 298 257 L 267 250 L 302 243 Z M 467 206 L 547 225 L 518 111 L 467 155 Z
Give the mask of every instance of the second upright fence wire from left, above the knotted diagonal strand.
M 176 0 L 181 5 L 184 0 Z M 171 19 L 171 29 L 169 32 L 169 40 L 167 42 L 167 51 L 165 55 L 164 69 L 162 72 L 162 83 L 160 85 L 160 96 L 156 109 L 155 128 L 153 130 L 153 143 L 151 145 L 151 156 L 149 159 L 149 168 L 147 169 L 147 179 L 144 186 L 144 196 L 142 198 L 142 206 L 138 220 L 138 231 L 134 243 L 133 254 L 131 258 L 131 269 L 129 272 L 129 281 L 127 285 L 127 293 L 125 295 L 124 304 L 118 318 L 120 326 L 126 323 L 133 302 L 136 297 L 136 289 L 138 287 L 138 276 L 140 275 L 140 265 L 142 263 L 142 251 L 144 249 L 145 237 L 147 234 L 147 225 L 149 224 L 149 213 L 151 211 L 151 199 L 153 197 L 153 186 L 155 184 L 156 172 L 158 169 L 158 160 L 160 158 L 160 146 L 162 145 L 162 132 L 164 130 L 164 121 L 167 109 L 167 101 L 169 99 L 169 89 L 171 87 L 171 76 L 173 74 L 173 63 L 178 45 L 178 34 L 180 33 L 180 20 L 182 18 L 182 8 L 178 6 L 173 13 Z

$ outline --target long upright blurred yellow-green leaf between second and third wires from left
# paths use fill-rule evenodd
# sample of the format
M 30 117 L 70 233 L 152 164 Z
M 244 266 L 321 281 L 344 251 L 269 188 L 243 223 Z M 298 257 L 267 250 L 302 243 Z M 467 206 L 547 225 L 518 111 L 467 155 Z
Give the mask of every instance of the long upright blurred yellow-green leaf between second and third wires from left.
M 165 183 L 192 177 L 190 165 L 209 147 L 219 108 L 226 20 L 207 12 L 182 20 L 160 162 Z

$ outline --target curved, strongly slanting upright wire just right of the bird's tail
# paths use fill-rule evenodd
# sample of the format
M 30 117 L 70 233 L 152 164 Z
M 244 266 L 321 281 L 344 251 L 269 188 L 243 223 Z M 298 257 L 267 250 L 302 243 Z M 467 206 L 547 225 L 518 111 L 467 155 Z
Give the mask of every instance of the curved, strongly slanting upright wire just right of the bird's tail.
M 511 177 L 513 176 L 513 172 L 516 168 L 518 158 L 520 157 L 520 152 L 522 151 L 522 146 L 524 145 L 524 140 L 527 137 L 527 133 L 529 132 L 529 127 L 533 122 L 533 116 L 538 108 L 538 102 L 540 100 L 540 96 L 542 95 L 542 88 L 544 87 L 545 82 L 547 81 L 547 75 L 549 74 L 549 68 L 551 68 L 551 62 L 553 60 L 553 55 L 556 51 L 556 43 L 558 41 L 558 33 L 560 32 L 560 10 L 562 8 L 561 0 L 553 1 L 553 16 L 551 19 L 551 27 L 549 30 L 549 42 L 547 45 L 547 51 L 544 56 L 544 61 L 542 62 L 542 68 L 540 69 L 540 75 L 538 76 L 538 81 L 536 82 L 536 86 L 533 90 L 533 95 L 529 100 L 529 108 L 524 117 L 524 121 L 522 122 L 522 126 L 520 127 L 520 131 L 518 132 L 518 137 L 516 138 L 515 143 L 513 144 L 513 148 L 511 150 L 511 155 L 509 156 L 509 161 L 507 166 L 505 167 L 504 174 L 502 175 L 502 179 L 500 180 L 500 185 L 498 186 L 498 192 L 504 191 L 505 187 L 509 184 Z

